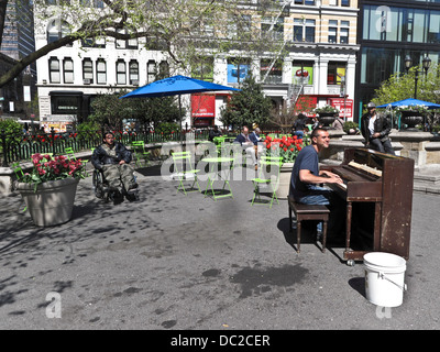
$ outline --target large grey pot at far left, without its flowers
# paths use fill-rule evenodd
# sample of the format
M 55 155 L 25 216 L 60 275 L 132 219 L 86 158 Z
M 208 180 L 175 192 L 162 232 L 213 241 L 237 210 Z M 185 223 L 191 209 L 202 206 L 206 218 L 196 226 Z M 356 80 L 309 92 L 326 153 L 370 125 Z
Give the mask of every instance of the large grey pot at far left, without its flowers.
M 32 220 L 37 227 L 53 227 L 70 220 L 79 178 L 64 178 L 34 185 L 18 183 Z

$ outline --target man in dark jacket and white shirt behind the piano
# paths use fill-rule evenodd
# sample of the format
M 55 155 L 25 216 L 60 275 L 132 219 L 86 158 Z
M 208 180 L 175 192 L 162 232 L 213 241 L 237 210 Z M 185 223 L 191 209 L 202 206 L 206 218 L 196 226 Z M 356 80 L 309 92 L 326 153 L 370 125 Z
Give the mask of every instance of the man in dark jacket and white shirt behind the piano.
M 388 136 L 392 131 L 388 119 L 376 113 L 374 102 L 369 102 L 366 109 L 369 112 L 361 118 L 361 133 L 365 139 L 365 146 L 381 153 L 395 155 Z

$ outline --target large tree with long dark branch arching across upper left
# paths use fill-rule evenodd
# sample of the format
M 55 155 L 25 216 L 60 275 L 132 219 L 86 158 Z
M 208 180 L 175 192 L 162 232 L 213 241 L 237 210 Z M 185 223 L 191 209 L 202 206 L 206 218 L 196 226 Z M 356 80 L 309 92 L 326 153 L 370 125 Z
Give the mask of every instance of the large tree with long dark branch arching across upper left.
M 28 0 L 0 0 L 0 37 L 7 20 L 7 6 L 24 6 Z M 258 32 L 260 26 L 250 24 L 246 10 L 256 18 L 275 13 L 276 3 L 263 1 L 260 4 L 242 0 L 102 0 L 105 8 L 92 8 L 87 0 L 34 0 L 35 35 L 46 35 L 48 19 L 67 23 L 57 40 L 21 58 L 9 72 L 0 77 L 0 87 L 13 80 L 26 66 L 52 51 L 78 40 L 145 38 L 145 47 L 165 52 L 169 64 L 187 69 L 200 56 L 216 56 L 229 51 L 248 53 L 277 52 L 280 43 L 267 41 Z M 284 7 L 284 6 L 283 6 Z M 20 11 L 18 11 L 20 15 Z M 252 22 L 251 22 L 252 23 Z M 257 23 L 257 19 L 255 21 Z M 0 42 L 1 45 L 1 42 Z M 239 55 L 239 53 L 235 53 Z

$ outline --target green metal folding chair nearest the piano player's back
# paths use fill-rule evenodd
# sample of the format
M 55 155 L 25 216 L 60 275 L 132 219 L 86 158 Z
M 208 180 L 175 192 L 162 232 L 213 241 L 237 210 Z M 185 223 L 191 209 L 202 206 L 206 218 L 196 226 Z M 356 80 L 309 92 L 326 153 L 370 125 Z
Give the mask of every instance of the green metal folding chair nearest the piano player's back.
M 252 206 L 254 202 L 256 204 L 268 204 L 270 208 L 272 208 L 272 204 L 274 202 L 274 199 L 276 202 L 278 202 L 278 198 L 276 197 L 276 189 L 278 186 L 279 182 L 279 169 L 283 165 L 282 158 L 280 157 L 275 157 L 275 156 L 263 156 L 262 160 L 260 161 L 260 173 L 258 177 L 253 178 L 252 183 L 254 184 L 254 195 L 252 197 Z M 272 168 L 275 168 L 275 173 L 272 172 Z M 271 169 L 271 172 L 268 172 Z M 261 198 L 261 187 L 262 185 L 266 185 L 266 187 L 271 187 L 271 200 L 264 201 Z

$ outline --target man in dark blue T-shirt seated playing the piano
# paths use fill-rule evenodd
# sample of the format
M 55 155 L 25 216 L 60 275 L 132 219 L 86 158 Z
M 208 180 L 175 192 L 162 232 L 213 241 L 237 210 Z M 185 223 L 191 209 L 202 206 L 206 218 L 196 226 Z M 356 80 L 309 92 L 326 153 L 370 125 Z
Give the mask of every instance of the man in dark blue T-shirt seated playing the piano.
M 337 174 L 319 170 L 318 153 L 329 147 L 329 132 L 316 128 L 311 132 L 311 144 L 304 147 L 295 160 L 290 176 L 290 195 L 296 202 L 305 205 L 322 205 L 330 210 L 328 238 L 330 241 L 343 240 L 345 224 L 345 200 L 332 189 L 321 184 L 343 184 Z M 318 231 L 321 223 L 319 223 Z

